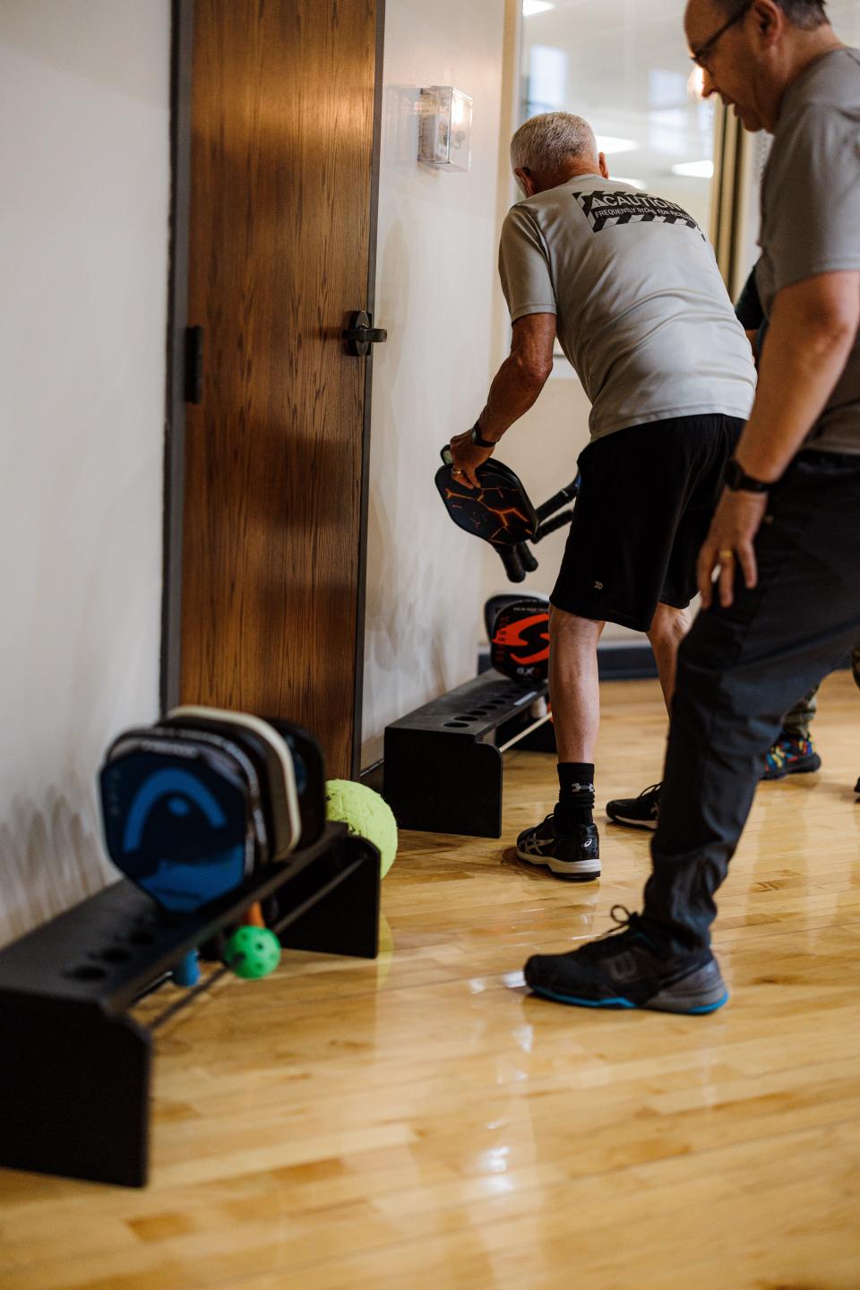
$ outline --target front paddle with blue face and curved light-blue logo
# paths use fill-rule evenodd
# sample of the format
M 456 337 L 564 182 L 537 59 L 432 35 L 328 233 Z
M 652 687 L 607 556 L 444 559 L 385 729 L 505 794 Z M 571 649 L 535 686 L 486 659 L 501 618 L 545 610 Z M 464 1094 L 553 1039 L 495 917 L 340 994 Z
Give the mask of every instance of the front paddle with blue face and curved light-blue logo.
M 165 909 L 199 909 L 249 872 L 246 795 L 226 759 L 132 749 L 101 788 L 111 859 Z

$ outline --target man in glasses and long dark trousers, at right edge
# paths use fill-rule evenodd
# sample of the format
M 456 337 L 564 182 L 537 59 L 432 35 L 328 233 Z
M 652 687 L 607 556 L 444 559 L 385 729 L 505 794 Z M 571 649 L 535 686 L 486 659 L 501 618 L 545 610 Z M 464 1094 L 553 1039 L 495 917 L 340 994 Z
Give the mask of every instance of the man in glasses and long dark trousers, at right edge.
M 774 135 L 757 268 L 767 343 L 699 556 L 704 609 L 678 657 L 645 909 L 534 956 L 525 975 L 561 1002 L 709 1013 L 727 998 L 714 893 L 762 757 L 860 637 L 860 50 L 819 0 L 690 0 L 685 25 L 705 95 Z

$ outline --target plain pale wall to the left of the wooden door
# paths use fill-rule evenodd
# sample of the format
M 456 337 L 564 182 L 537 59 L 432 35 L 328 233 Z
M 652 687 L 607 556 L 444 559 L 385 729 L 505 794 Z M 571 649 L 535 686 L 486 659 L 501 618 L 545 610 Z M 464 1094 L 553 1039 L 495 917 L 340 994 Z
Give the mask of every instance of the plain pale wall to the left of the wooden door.
M 0 944 L 102 886 L 157 713 L 169 0 L 0 5 Z

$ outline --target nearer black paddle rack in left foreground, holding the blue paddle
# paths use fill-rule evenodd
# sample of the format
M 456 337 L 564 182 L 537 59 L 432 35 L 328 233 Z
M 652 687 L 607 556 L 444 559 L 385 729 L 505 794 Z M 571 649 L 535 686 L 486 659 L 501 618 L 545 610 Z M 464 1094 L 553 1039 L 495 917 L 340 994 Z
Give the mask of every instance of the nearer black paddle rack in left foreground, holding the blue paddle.
M 146 1184 L 152 1032 L 228 969 L 147 1027 L 129 1009 L 258 900 L 288 948 L 376 956 L 379 853 L 344 824 L 196 913 L 122 880 L 0 951 L 0 1165 Z

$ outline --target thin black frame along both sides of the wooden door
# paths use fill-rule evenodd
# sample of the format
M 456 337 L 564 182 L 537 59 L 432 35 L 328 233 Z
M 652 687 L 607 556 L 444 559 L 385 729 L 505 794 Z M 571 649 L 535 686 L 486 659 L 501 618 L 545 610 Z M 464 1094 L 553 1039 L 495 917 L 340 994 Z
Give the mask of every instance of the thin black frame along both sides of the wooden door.
M 168 381 L 164 437 L 164 521 L 161 591 L 160 704 L 168 712 L 179 702 L 182 653 L 182 542 L 186 455 L 186 326 L 188 322 L 188 228 L 191 206 L 191 89 L 195 0 L 171 0 L 170 40 L 170 258 L 168 285 Z M 373 315 L 376 285 L 376 223 L 382 138 L 382 76 L 386 0 L 376 0 L 376 62 L 370 174 L 370 245 L 366 303 L 344 301 L 344 312 L 365 308 Z M 365 396 L 361 432 L 361 502 L 358 519 L 358 587 L 355 641 L 352 775 L 361 770 L 361 713 L 365 662 L 365 592 L 367 578 L 367 498 L 370 489 L 370 400 L 373 347 L 361 360 Z

